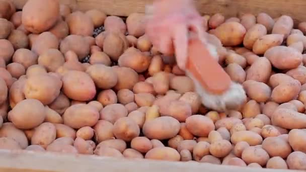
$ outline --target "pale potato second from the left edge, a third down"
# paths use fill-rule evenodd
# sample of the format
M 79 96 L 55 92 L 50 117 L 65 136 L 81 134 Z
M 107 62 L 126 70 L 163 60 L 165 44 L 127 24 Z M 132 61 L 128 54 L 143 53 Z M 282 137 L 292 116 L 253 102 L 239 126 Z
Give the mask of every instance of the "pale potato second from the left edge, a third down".
M 38 55 L 28 49 L 18 49 L 13 55 L 13 62 L 22 64 L 26 69 L 37 64 Z

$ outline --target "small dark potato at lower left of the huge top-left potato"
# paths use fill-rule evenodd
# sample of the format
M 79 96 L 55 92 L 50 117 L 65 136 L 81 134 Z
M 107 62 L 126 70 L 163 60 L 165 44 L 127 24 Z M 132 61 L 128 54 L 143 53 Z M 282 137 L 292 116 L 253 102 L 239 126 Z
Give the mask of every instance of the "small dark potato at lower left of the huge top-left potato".
M 8 40 L 12 43 L 15 50 L 20 48 L 28 48 L 29 46 L 28 36 L 20 30 L 13 30 L 8 37 Z

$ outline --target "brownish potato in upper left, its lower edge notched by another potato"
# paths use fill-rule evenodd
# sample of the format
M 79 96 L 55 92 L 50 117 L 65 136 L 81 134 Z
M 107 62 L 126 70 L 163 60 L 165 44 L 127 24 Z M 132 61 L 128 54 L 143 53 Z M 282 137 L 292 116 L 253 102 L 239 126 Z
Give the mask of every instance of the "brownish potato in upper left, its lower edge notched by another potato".
M 59 50 L 63 54 L 71 50 L 78 55 L 79 60 L 82 60 L 89 54 L 90 45 L 83 36 L 68 35 L 60 42 Z

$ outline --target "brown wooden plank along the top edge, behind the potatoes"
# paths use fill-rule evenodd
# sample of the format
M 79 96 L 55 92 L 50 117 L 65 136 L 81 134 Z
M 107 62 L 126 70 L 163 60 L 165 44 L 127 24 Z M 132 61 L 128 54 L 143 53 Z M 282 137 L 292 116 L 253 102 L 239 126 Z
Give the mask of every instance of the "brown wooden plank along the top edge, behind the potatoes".
M 128 16 L 133 12 L 144 13 L 145 5 L 154 0 L 77 0 L 80 10 L 100 9 L 108 15 Z M 225 17 L 235 17 L 239 13 L 265 12 L 276 18 L 291 16 L 295 23 L 306 21 L 306 1 L 304 0 L 195 0 L 201 14 L 222 13 Z

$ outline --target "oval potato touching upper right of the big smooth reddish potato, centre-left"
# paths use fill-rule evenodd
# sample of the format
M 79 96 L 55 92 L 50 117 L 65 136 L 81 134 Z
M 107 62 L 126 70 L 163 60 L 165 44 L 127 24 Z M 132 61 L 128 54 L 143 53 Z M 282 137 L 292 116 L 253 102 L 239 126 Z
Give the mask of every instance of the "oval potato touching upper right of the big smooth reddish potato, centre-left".
M 111 89 L 118 82 L 118 76 L 115 70 L 103 64 L 93 64 L 89 66 L 86 73 L 92 77 L 99 89 Z

